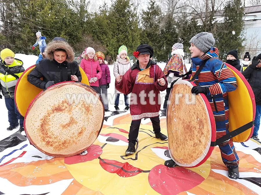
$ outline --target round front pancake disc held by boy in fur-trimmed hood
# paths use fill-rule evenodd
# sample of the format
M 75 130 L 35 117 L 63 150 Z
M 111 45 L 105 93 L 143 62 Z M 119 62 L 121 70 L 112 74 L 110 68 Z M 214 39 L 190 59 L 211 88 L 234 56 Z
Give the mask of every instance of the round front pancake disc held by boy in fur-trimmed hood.
M 30 103 L 24 129 L 30 143 L 55 157 L 86 150 L 102 129 L 104 106 L 89 86 L 73 81 L 57 83 Z

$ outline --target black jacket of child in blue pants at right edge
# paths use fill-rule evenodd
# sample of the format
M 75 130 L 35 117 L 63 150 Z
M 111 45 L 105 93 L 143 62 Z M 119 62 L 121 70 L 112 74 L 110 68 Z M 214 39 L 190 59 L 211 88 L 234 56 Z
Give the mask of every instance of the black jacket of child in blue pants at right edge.
M 248 66 L 242 73 L 254 92 L 255 103 L 261 105 L 261 68 L 251 68 Z

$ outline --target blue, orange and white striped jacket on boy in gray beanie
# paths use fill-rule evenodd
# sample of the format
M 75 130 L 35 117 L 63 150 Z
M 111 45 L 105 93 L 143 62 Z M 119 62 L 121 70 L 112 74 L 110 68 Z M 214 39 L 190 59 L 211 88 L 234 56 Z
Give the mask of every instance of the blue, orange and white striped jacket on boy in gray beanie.
M 220 120 L 229 115 L 227 92 L 237 88 L 236 78 L 231 70 L 218 59 L 218 48 L 212 47 L 208 53 L 201 57 L 191 58 L 192 76 L 196 73 L 204 60 L 206 64 L 199 75 L 195 78 L 195 84 L 209 88 L 206 95 L 214 115 L 220 115 Z

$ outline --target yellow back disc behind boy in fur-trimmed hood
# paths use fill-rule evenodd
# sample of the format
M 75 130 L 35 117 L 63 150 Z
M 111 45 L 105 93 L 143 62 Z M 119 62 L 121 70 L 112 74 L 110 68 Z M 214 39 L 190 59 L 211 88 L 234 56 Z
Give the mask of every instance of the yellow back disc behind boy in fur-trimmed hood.
M 30 66 L 27 68 L 21 77 L 18 79 L 15 91 L 14 91 L 14 101 L 17 106 L 17 110 L 19 113 L 24 117 L 26 114 L 26 110 L 30 104 L 30 102 L 39 94 L 42 89 L 32 85 L 27 81 L 28 74 L 35 68 L 35 65 Z M 79 67 L 81 72 L 81 83 L 84 83 L 86 85 L 89 85 L 88 78 L 85 74 L 85 72 L 82 70 L 81 67 Z

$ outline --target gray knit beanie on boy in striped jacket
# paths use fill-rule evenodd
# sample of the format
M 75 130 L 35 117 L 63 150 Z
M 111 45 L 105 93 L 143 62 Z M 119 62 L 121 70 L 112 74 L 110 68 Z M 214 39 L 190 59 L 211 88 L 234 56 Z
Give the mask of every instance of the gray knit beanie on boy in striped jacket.
M 193 43 L 200 51 L 207 53 L 214 46 L 215 39 L 212 33 L 201 32 L 193 36 L 189 42 Z

